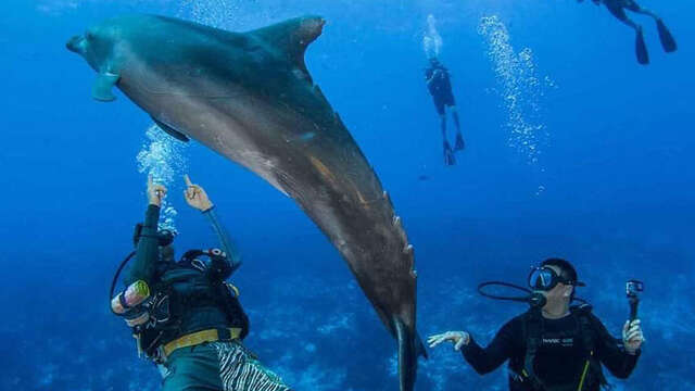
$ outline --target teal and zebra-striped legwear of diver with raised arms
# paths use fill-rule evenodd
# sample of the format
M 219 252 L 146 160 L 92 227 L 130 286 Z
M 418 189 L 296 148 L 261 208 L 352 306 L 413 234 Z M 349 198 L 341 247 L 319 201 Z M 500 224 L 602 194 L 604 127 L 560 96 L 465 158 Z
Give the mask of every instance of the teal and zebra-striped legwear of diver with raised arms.
M 179 349 L 161 369 L 164 391 L 291 391 L 237 341 Z

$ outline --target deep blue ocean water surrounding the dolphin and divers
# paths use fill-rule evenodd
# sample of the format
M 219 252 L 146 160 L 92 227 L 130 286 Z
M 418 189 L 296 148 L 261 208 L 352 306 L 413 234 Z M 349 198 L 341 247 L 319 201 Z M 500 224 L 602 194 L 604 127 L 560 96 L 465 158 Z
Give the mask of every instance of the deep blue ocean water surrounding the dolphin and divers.
M 182 174 L 217 204 L 244 258 L 233 282 L 252 319 L 247 342 L 265 364 L 296 390 L 397 387 L 392 338 L 291 200 L 195 142 L 176 144 L 123 94 L 91 99 L 93 72 L 65 41 L 129 12 L 230 30 L 328 21 L 307 66 L 403 218 L 422 336 L 465 329 L 488 342 L 525 308 L 481 298 L 478 282 L 523 283 L 530 265 L 563 256 L 616 336 L 624 281 L 645 281 L 647 342 L 634 374 L 610 379 L 616 389 L 695 389 L 693 5 L 643 5 L 680 46 L 664 54 L 654 23 L 635 16 L 648 66 L 636 64 L 633 33 L 590 1 L 3 1 L 0 389 L 159 389 L 106 301 L 149 172 L 170 188 L 177 250 L 216 244 L 178 197 Z M 422 77 L 428 15 L 468 143 L 452 167 Z M 504 369 L 480 377 L 450 349 L 420 363 L 416 387 L 505 388 Z

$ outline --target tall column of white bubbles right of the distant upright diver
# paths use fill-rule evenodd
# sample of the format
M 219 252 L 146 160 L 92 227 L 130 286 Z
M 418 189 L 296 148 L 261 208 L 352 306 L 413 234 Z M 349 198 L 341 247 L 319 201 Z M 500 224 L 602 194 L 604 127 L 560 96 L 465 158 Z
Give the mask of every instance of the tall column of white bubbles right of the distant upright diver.
M 485 39 L 488 58 L 494 66 L 507 112 L 508 144 L 521 153 L 527 163 L 540 164 L 543 148 L 549 139 L 542 121 L 542 100 L 548 88 L 557 86 L 548 76 L 538 76 L 531 49 L 515 51 L 507 27 L 496 15 L 483 17 L 478 33 Z M 544 171 L 542 166 L 540 168 Z M 541 188 L 539 190 L 542 192 Z

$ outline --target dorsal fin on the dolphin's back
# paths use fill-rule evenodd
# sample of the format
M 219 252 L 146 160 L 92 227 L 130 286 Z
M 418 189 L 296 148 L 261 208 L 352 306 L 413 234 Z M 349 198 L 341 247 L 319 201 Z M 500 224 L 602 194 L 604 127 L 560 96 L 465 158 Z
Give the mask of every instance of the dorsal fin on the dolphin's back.
M 251 30 L 248 34 L 274 47 L 311 80 L 304 63 L 304 51 L 321 35 L 325 23 L 320 16 L 302 16 Z

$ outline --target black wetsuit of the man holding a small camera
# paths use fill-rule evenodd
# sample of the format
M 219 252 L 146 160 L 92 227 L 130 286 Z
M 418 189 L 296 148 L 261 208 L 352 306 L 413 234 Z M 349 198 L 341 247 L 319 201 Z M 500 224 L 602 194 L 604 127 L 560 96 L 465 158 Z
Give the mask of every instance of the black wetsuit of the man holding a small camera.
M 482 349 L 475 340 L 464 346 L 463 354 L 473 369 L 481 375 L 488 374 L 509 361 L 509 389 L 514 391 L 534 390 L 530 381 L 523 381 L 518 376 L 525 369 L 527 358 L 527 332 L 529 313 L 509 320 L 494 337 L 488 348 Z M 570 314 L 560 319 L 542 320 L 540 343 L 533 360 L 535 376 L 542 380 L 545 388 L 541 390 L 577 390 L 583 367 L 587 358 L 587 348 L 584 346 L 579 318 Z M 599 371 L 603 364 L 617 378 L 624 379 L 634 369 L 640 352 L 628 354 L 622 349 L 622 342 L 612 338 L 601 320 L 591 313 L 585 315 L 592 332 L 594 362 Z M 599 390 L 599 379 L 603 374 L 593 374 L 585 391 Z

